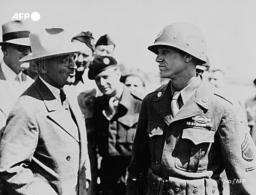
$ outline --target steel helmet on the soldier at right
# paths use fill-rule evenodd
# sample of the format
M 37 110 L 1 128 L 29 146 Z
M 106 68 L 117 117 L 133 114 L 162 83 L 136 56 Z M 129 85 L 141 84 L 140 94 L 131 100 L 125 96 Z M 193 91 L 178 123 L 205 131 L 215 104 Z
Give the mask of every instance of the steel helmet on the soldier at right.
M 177 22 L 164 27 L 148 50 L 158 54 L 158 45 L 169 45 L 195 56 L 206 63 L 206 41 L 203 32 L 191 23 Z

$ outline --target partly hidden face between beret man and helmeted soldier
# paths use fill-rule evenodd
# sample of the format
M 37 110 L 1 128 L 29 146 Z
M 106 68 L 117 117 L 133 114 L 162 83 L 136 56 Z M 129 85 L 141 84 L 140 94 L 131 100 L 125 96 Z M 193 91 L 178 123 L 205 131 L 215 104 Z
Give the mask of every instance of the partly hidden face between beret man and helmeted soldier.
M 143 93 L 145 90 L 145 86 L 139 77 L 128 76 L 126 77 L 124 84 L 131 92 Z

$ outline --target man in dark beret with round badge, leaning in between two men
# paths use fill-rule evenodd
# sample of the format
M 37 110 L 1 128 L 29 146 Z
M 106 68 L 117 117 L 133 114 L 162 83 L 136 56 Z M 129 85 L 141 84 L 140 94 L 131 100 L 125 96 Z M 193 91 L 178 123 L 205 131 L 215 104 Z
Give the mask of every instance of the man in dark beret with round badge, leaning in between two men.
M 102 157 L 100 190 L 109 195 L 126 194 L 126 169 L 141 105 L 141 99 L 120 82 L 120 77 L 117 61 L 111 56 L 95 58 L 88 72 L 103 94 L 88 104 L 94 109 L 92 124 Z

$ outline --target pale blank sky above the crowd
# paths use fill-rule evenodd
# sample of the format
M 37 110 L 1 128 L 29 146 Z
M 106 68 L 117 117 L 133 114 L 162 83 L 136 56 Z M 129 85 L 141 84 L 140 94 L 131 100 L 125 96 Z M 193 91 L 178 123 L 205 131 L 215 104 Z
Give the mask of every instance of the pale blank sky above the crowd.
M 15 13 L 38 12 L 38 21 L 27 19 L 31 31 L 62 26 L 75 36 L 90 30 L 95 40 L 109 34 L 116 44 L 119 63 L 157 72 L 156 55 L 147 50 L 158 32 L 173 22 L 191 22 L 201 28 L 212 67 L 227 76 L 251 83 L 256 77 L 256 1 L 5 1 L 0 23 Z M 1 33 L 2 35 L 2 33 Z

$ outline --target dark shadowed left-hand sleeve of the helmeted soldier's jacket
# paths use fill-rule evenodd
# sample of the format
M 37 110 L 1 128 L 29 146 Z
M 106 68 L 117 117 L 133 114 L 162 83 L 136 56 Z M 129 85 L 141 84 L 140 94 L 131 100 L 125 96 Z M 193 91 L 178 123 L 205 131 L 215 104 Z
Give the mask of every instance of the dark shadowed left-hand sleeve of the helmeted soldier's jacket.
M 127 195 L 140 194 L 145 185 L 145 178 L 150 167 L 147 124 L 147 103 L 144 99 L 141 104 L 138 127 L 133 141 L 132 159 L 128 167 Z

